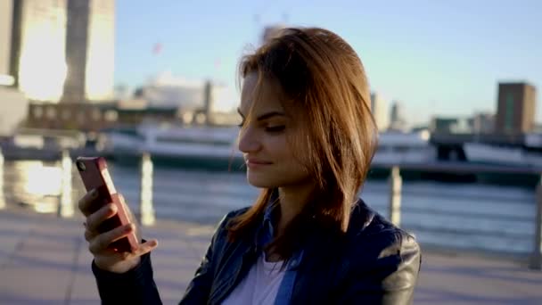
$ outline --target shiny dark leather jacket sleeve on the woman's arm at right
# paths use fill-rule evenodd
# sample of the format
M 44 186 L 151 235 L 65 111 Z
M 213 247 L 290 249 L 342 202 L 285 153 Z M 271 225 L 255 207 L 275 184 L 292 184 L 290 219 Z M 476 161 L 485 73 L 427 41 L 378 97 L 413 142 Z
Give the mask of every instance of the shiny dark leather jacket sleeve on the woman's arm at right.
M 420 247 L 405 232 L 385 240 L 374 260 L 351 269 L 341 304 L 412 304 L 422 263 Z

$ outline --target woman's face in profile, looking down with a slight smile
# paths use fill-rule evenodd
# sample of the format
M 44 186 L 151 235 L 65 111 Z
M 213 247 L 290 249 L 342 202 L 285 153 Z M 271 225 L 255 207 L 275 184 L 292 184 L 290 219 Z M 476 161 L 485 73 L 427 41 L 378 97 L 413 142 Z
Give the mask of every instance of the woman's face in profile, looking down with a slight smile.
M 280 103 L 281 88 L 264 79 L 260 99 L 254 103 L 252 93 L 257 83 L 257 73 L 244 78 L 239 107 L 244 123 L 239 133 L 239 150 L 244 155 L 250 185 L 275 188 L 309 183 L 310 175 L 302 164 L 304 152 L 300 148 L 296 151 L 288 141 L 300 127 Z M 250 107 L 251 120 L 245 121 Z

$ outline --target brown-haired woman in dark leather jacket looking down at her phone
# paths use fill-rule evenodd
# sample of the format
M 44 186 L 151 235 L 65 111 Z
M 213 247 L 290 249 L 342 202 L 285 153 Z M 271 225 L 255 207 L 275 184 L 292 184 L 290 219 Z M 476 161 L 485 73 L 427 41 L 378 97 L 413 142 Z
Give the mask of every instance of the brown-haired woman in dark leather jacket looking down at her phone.
M 407 304 L 421 253 L 415 238 L 357 193 L 376 148 L 363 65 L 325 29 L 285 29 L 242 59 L 239 149 L 256 202 L 220 222 L 182 304 Z M 92 192 L 79 202 L 86 213 Z M 160 303 L 144 242 L 109 243 L 136 230 L 97 234 L 116 213 L 86 213 L 86 240 L 105 303 Z

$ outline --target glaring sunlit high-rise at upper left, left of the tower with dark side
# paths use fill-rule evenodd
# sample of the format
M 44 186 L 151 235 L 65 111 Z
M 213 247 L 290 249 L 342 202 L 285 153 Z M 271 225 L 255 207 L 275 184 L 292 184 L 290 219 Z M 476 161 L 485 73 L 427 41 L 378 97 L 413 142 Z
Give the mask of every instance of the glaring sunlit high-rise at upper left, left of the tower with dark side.
M 58 101 L 66 78 L 67 0 L 20 0 L 13 5 L 12 71 L 32 100 Z

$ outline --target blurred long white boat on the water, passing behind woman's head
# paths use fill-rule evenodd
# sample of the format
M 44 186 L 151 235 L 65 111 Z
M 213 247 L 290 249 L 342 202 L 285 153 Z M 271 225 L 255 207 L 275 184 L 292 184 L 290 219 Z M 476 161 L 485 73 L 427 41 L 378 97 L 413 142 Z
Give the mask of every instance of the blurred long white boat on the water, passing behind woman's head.
M 116 129 L 107 133 L 103 151 L 113 155 L 140 154 L 179 158 L 242 158 L 237 148 L 239 128 L 160 127 Z M 379 136 L 375 164 L 419 163 L 435 160 L 429 132 L 385 132 Z

